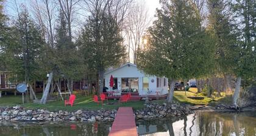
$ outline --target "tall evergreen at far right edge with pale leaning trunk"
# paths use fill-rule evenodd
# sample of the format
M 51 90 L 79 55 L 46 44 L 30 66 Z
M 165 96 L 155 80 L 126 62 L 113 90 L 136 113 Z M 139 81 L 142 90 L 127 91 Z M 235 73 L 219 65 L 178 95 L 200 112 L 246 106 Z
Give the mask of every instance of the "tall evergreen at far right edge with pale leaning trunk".
M 236 88 L 233 104 L 238 106 L 238 98 L 242 80 L 255 78 L 256 71 L 256 2 L 251 0 L 237 0 L 232 4 L 232 12 L 236 21 L 235 45 L 237 54 L 234 55 L 233 73 L 236 75 Z

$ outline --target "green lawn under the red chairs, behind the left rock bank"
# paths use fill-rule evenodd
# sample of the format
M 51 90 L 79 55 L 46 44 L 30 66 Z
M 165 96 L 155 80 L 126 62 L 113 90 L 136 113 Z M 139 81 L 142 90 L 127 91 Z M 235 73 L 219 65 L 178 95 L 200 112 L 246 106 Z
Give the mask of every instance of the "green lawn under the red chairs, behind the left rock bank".
M 22 107 L 27 109 L 47 109 L 51 111 L 57 110 L 66 110 L 66 111 L 75 111 L 78 109 L 90 109 L 90 110 L 98 110 L 98 109 L 117 109 L 119 106 L 122 107 L 133 107 L 134 109 L 140 109 L 144 107 L 144 101 L 129 101 L 127 103 L 119 103 L 118 100 L 108 100 L 108 102 L 115 102 L 113 105 L 106 104 L 107 101 L 104 101 L 103 106 L 101 103 L 98 105 L 93 102 L 93 98 L 91 96 L 82 97 L 82 95 L 76 95 L 76 101 L 74 102 L 73 107 L 64 106 L 63 101 L 51 101 L 46 104 L 37 104 L 37 103 L 24 103 L 22 104 L 22 96 L 21 95 L 9 95 L 2 96 L 0 98 L 0 106 L 16 106 L 19 104 Z

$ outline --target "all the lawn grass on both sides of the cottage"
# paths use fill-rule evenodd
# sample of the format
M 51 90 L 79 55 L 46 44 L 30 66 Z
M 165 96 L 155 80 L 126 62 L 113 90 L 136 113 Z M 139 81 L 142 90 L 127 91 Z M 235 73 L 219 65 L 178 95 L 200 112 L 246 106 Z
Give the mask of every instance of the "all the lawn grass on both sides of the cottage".
M 179 103 L 192 104 L 192 105 L 215 105 L 218 103 L 230 103 L 231 98 L 229 96 L 226 97 L 225 94 L 221 94 L 220 98 L 207 98 L 202 96 L 201 94 L 197 94 L 197 89 L 191 87 L 189 91 L 174 91 L 174 101 L 178 101 Z M 38 98 L 41 97 L 41 94 L 37 94 Z M 204 97 L 204 100 L 194 100 L 187 97 Z M 101 104 L 97 104 L 93 102 L 93 98 L 91 96 L 83 97 L 82 95 L 76 94 L 76 101 L 74 102 L 74 106 L 64 106 L 63 101 L 51 101 L 46 104 L 37 104 L 37 103 L 25 103 L 22 104 L 22 95 L 3 95 L 0 98 L 0 106 L 16 106 L 17 104 L 28 108 L 28 109 L 47 109 L 51 111 L 57 110 L 66 110 L 66 111 L 75 111 L 78 109 L 89 109 L 89 110 L 98 110 L 98 109 L 117 109 L 119 106 L 122 107 L 133 107 L 134 109 L 141 109 L 144 107 L 144 101 L 129 101 L 127 103 L 117 104 L 117 100 L 108 100 L 109 103 L 113 102 L 115 104 L 106 104 L 107 101 L 101 106 Z M 163 103 L 165 100 L 154 100 L 154 103 Z

